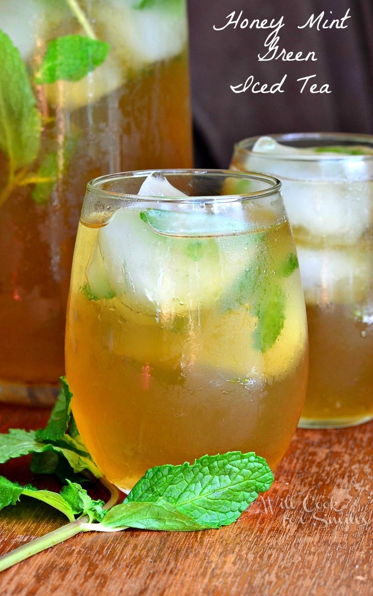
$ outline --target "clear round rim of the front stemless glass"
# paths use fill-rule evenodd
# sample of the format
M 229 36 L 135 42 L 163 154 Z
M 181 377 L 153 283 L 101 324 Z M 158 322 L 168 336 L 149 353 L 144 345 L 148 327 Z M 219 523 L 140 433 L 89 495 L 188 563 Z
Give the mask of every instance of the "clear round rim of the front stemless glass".
M 164 176 L 217 176 L 221 178 L 238 178 L 240 180 L 257 180 L 259 182 L 267 182 L 269 188 L 257 190 L 252 193 L 237 193 L 226 195 L 199 195 L 187 196 L 181 198 L 176 197 L 154 197 L 148 195 L 138 195 L 131 193 L 119 193 L 117 191 L 106 190 L 100 188 L 100 185 L 105 182 L 116 181 L 120 179 L 130 178 L 146 178 L 151 173 L 162 173 Z M 153 169 L 153 170 L 130 170 L 129 172 L 117 172 L 113 174 L 106 174 L 92 178 L 86 185 L 86 192 L 100 197 L 126 199 L 144 201 L 147 203 L 179 203 L 179 204 L 194 204 L 203 200 L 203 203 L 234 203 L 243 202 L 247 200 L 256 200 L 263 197 L 268 197 L 278 194 L 281 191 L 281 182 L 275 176 L 257 172 L 247 172 L 244 170 L 223 170 L 223 169 Z

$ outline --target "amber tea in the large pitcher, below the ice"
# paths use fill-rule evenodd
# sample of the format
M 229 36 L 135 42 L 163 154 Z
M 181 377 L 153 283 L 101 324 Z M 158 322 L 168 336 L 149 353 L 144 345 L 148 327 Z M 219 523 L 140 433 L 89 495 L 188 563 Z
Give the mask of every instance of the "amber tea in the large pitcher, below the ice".
M 66 302 L 86 182 L 192 162 L 186 51 L 132 73 L 123 88 L 71 112 L 51 110 L 38 92 L 49 120 L 45 153 L 71 139 L 73 150 L 45 205 L 24 185 L 0 207 L 0 400 L 48 401 L 48 391 L 37 395 L 40 386 L 57 386 L 64 372 Z M 7 173 L 0 154 L 0 190 Z

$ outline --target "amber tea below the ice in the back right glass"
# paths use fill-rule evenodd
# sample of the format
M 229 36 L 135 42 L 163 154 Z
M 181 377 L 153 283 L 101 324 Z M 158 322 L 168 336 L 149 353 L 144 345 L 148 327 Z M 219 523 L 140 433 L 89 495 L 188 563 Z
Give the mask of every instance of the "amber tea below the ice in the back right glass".
M 353 305 L 309 305 L 307 321 L 310 372 L 302 424 L 351 426 L 370 420 L 372 323 L 359 320 Z

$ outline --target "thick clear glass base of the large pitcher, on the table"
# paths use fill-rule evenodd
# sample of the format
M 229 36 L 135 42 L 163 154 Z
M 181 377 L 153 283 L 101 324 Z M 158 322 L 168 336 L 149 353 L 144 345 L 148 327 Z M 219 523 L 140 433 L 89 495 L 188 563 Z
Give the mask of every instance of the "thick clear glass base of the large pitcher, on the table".
M 0 403 L 48 407 L 54 405 L 60 389 L 58 385 L 24 385 L 0 380 Z

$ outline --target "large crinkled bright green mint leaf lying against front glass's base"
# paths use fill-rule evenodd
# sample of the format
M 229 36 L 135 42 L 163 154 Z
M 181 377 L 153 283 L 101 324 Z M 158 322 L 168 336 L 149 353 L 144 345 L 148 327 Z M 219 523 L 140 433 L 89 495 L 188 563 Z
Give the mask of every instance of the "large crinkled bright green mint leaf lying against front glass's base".
M 105 526 L 129 525 L 129 518 L 120 516 L 132 502 L 161 505 L 156 527 L 151 519 L 147 529 L 159 529 L 164 503 L 172 505 L 180 513 L 191 517 L 200 526 L 216 528 L 235 522 L 260 492 L 267 491 L 273 482 L 273 474 L 267 462 L 254 453 L 240 451 L 224 455 L 204 455 L 194 464 L 160 465 L 151 468 L 133 487 L 122 505 L 116 505 L 105 517 Z M 169 511 L 165 511 L 165 515 Z M 139 510 L 141 523 L 144 511 Z M 163 520 L 166 524 L 166 520 Z M 167 529 L 178 530 L 179 520 Z M 144 527 L 144 526 L 142 526 Z

